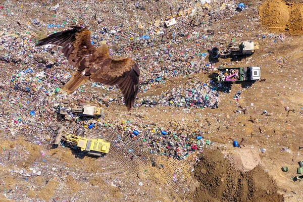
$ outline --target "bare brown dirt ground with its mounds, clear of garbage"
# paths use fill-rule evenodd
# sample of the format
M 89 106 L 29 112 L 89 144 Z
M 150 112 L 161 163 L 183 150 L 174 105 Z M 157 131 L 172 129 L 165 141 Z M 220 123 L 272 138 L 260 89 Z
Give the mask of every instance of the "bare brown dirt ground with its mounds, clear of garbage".
M 60 1 L 53 4 L 57 2 Z M 260 49 L 246 58 L 220 59 L 215 65 L 260 66 L 264 80 L 252 85 L 233 84 L 230 93 L 220 92 L 218 109 L 184 111 L 184 108 L 157 106 L 134 108 L 126 113 L 124 106 L 113 104 L 105 110 L 106 118 L 114 116 L 117 120 L 145 124 L 156 122 L 166 127 L 172 122 L 181 122 L 188 128 L 203 128 L 204 137 L 212 144 L 206 146 L 202 154 L 177 161 L 154 156 L 139 142 L 127 140 L 112 143 L 111 152 L 105 158 L 81 159 L 70 148 L 46 150 L 45 145 L 33 144 L 26 134 L 8 137 L 9 131 L 3 129 L 0 133 L 0 202 L 302 201 L 302 182 L 291 178 L 296 175 L 297 162 L 303 160 L 300 147 L 303 146 L 303 3 L 251 2 L 256 10 L 248 9 L 230 19 L 213 22 L 213 42 L 224 34 L 229 40 L 241 32 L 237 40 L 257 41 Z M 249 5 L 250 1 L 244 3 Z M 34 15 L 34 11 L 28 13 L 27 18 Z M 22 19 L 14 17 L 3 23 L 17 30 L 18 25 L 14 27 L 11 23 L 15 20 L 22 23 Z M 47 18 L 45 21 L 52 22 Z M 270 33 L 280 38 L 269 37 Z M 267 37 L 262 37 L 263 34 Z M 10 65 L 12 69 L 19 68 Z M 7 76 L 0 78 L 7 80 Z M 157 95 L 176 83 L 210 80 L 210 77 L 201 73 L 174 78 L 173 82 L 151 87 L 138 97 Z M 241 99 L 236 103 L 233 97 L 239 90 Z M 268 114 L 263 114 L 264 110 Z M 114 141 L 117 134 L 105 136 Z M 233 140 L 238 140 L 241 147 L 233 147 Z M 136 150 L 137 156 L 130 157 L 130 148 Z M 45 156 L 41 156 L 44 153 Z M 287 166 L 289 171 L 282 172 L 282 166 Z M 42 171 L 41 176 L 25 177 L 20 173 L 20 170 L 33 172 L 36 167 Z

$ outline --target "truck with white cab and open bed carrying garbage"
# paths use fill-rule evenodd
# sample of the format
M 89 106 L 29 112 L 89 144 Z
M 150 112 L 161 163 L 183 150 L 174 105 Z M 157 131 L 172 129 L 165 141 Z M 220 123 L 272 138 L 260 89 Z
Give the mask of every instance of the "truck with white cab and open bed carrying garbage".
M 260 67 L 218 68 L 217 82 L 256 81 L 261 78 Z

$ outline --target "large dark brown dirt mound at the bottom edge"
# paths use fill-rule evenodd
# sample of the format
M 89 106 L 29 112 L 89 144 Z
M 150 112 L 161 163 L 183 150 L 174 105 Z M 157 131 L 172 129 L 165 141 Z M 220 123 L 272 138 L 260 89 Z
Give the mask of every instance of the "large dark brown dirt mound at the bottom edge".
M 240 172 L 218 150 L 206 151 L 199 159 L 194 169 L 200 186 L 193 201 L 283 201 L 262 167 Z

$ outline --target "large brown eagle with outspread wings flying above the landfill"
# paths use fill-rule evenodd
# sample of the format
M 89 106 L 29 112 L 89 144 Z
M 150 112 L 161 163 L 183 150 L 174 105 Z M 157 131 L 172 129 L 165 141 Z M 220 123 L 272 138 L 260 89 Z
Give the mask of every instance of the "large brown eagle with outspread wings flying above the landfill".
M 49 35 L 37 44 L 62 46 L 62 53 L 68 63 L 78 69 L 61 89 L 71 94 L 89 78 L 107 85 L 117 84 L 124 96 L 127 110 L 130 111 L 139 90 L 140 70 L 137 64 L 129 58 L 112 60 L 106 44 L 99 48 L 91 44 L 91 32 L 88 29 L 76 26 L 71 28 L 73 29 Z

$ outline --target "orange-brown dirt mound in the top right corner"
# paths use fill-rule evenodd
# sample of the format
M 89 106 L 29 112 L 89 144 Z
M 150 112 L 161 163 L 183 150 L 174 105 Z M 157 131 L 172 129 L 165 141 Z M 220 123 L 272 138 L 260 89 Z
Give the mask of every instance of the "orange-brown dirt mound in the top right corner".
M 268 0 L 260 6 L 260 20 L 272 31 L 303 34 L 303 3 Z

